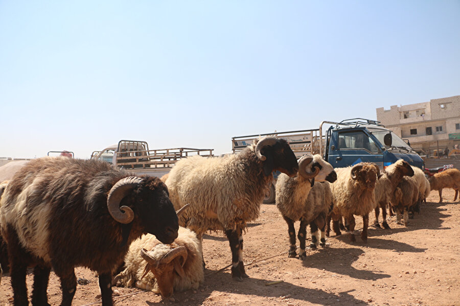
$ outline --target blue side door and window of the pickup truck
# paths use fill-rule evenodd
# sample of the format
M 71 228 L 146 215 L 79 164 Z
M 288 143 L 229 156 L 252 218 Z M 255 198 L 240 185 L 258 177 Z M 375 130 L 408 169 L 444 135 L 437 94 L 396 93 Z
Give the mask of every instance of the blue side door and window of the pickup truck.
M 383 169 L 382 149 L 364 130 L 338 130 L 332 134 L 328 158 L 332 167 L 348 167 L 366 161 Z

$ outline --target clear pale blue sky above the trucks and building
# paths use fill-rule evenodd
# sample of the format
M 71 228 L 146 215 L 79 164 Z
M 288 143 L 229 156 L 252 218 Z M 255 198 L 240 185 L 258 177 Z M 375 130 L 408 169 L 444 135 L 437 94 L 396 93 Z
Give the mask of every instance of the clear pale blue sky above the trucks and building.
M 0 0 L 0 157 L 231 151 L 460 95 L 460 1 Z

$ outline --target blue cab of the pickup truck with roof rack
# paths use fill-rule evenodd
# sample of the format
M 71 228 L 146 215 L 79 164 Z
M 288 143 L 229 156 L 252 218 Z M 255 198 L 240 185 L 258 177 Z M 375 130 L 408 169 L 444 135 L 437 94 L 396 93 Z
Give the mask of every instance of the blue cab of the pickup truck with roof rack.
M 424 170 L 423 159 L 398 135 L 377 121 L 355 118 L 331 126 L 324 154 L 332 167 L 374 162 L 384 169 L 398 159 Z

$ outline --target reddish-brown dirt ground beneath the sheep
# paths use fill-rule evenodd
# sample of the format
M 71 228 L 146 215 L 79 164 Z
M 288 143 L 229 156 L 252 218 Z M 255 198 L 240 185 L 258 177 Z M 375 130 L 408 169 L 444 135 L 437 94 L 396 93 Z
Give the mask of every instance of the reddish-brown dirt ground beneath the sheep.
M 452 203 L 453 194 L 444 190 L 439 204 L 438 192 L 432 192 L 408 227 L 390 219 L 389 230 L 371 227 L 366 244 L 359 237 L 351 244 L 348 233 L 331 237 L 326 248 L 307 250 L 304 261 L 287 257 L 287 225 L 275 205 L 264 204 L 260 218 L 244 234 L 250 278 L 240 283 L 228 269 L 218 272 L 230 263 L 231 252 L 222 234 L 210 234 L 203 240 L 206 270 L 198 290 L 163 299 L 152 292 L 124 296 L 140 290 L 114 287 L 119 293 L 114 301 L 133 306 L 460 305 L 460 202 Z M 356 228 L 361 228 L 362 220 L 357 221 Z M 76 274 L 90 283 L 78 285 L 73 304 L 100 304 L 96 274 L 83 268 Z M 27 277 L 29 294 L 32 278 Z M 282 283 L 267 286 L 273 281 Z M 48 291 L 50 304 L 59 305 L 59 279 L 53 272 Z M 11 299 L 7 274 L 0 286 L 0 306 L 11 305 Z

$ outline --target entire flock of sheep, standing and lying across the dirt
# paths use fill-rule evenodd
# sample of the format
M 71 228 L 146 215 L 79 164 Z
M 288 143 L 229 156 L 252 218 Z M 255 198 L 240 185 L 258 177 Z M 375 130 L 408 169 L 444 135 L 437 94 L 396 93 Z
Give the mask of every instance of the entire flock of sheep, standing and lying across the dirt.
M 223 231 L 232 252 L 232 276 L 248 277 L 243 264 L 247 223 L 259 217 L 265 190 L 280 171 L 276 204 L 288 224 L 289 257 L 296 257 L 294 222 L 300 221 L 298 258 L 325 246 L 344 225 L 355 241 L 355 217 L 363 218 L 367 240 L 369 213 L 375 225 L 382 209 L 395 210 L 407 225 L 431 190 L 460 187 L 460 171 L 425 178 L 398 160 L 384 170 L 374 163 L 333 169 L 319 155 L 297 161 L 284 139 L 256 139 L 242 152 L 222 157 L 179 160 L 169 174 L 134 177 L 96 160 L 39 158 L 0 184 L 0 229 L 9 254 L 15 305 L 27 305 L 26 271 L 34 267 L 32 303 L 47 305 L 51 269 L 61 279 L 62 303 L 71 305 L 77 287 L 74 267 L 98 272 L 102 304 L 112 305 L 111 286 L 136 286 L 169 297 L 196 289 L 204 280 L 202 236 Z M 455 201 L 454 199 L 454 201 Z M 176 211 L 177 210 L 177 211 Z M 76 234 L 78 233 L 78 234 Z M 1 268 L 0 268 L 1 273 Z M 1 276 L 0 276 L 1 279 Z

